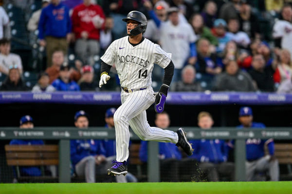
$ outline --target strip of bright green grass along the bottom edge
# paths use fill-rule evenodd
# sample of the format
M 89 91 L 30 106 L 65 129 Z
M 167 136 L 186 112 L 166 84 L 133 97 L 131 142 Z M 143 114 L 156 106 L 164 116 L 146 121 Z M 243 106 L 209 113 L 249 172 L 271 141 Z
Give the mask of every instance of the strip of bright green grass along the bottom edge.
M 0 184 L 0 194 L 292 194 L 292 182 Z

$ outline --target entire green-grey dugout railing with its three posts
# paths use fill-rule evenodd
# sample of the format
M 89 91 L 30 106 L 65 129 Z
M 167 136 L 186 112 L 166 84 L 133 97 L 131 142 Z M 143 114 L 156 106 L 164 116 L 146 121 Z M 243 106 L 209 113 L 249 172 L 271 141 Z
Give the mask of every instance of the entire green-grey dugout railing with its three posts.
M 170 128 L 172 129 L 172 128 Z M 177 129 L 174 127 L 173 129 Z M 292 128 L 267 128 L 267 129 L 236 129 L 236 128 L 214 128 L 201 130 L 198 128 L 185 128 L 189 139 L 234 139 L 235 140 L 235 174 L 237 181 L 245 181 L 245 139 L 259 138 L 276 140 L 292 139 Z M 59 140 L 59 182 L 71 182 L 70 170 L 70 140 L 71 139 L 115 139 L 114 130 L 106 128 L 41 128 L 19 129 L 0 128 L 0 140 L 10 139 L 42 139 Z M 131 140 L 139 140 L 132 131 Z M 158 143 L 148 144 L 148 170 L 149 182 L 160 181 Z

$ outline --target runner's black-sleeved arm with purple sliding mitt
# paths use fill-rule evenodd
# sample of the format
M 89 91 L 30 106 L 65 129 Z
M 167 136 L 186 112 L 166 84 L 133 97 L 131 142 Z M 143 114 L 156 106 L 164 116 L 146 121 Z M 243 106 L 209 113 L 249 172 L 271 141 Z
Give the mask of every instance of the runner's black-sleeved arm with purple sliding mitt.
M 160 87 L 159 92 L 155 96 L 154 109 L 156 113 L 162 113 L 164 110 L 164 103 L 166 100 L 169 85 L 172 80 L 173 72 L 174 72 L 174 65 L 172 61 L 170 61 L 170 63 L 164 68 L 164 78 L 162 80 L 163 84 Z

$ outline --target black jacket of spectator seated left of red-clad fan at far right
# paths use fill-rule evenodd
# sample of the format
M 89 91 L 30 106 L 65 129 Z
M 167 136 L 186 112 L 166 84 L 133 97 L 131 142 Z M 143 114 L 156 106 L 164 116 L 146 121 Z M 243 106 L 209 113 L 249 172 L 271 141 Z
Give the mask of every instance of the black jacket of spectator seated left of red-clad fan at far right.
M 257 88 L 263 92 L 274 92 L 274 70 L 271 65 L 266 66 L 263 71 L 251 69 L 249 74 L 256 81 Z

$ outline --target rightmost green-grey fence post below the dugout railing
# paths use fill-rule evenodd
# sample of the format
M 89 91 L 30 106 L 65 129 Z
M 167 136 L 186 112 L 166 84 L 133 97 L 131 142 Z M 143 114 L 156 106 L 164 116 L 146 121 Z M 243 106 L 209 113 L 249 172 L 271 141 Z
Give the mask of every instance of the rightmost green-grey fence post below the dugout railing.
M 245 140 L 235 140 L 235 180 L 236 181 L 246 181 L 245 175 Z

